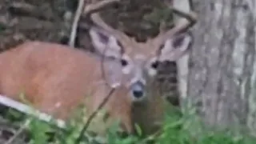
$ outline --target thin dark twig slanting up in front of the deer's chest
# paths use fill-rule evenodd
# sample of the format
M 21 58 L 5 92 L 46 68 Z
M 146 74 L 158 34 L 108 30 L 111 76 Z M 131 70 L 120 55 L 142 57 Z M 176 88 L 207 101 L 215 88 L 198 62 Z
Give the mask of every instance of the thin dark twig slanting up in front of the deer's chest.
M 112 88 L 110 90 L 110 93 L 106 95 L 106 97 L 102 100 L 102 102 L 100 103 L 100 105 L 98 106 L 97 110 L 95 110 L 90 117 L 88 118 L 85 126 L 82 127 L 82 130 L 80 131 L 80 134 L 78 136 L 78 138 L 76 139 L 76 141 L 74 142 L 75 144 L 78 144 L 79 142 L 81 142 L 82 140 L 82 135 L 86 132 L 86 130 L 88 129 L 88 127 L 90 126 L 90 122 L 92 122 L 92 120 L 94 119 L 94 117 L 96 116 L 96 114 L 98 114 L 98 111 L 102 109 L 102 107 L 106 104 L 106 102 L 110 99 L 110 96 L 114 93 L 114 88 Z

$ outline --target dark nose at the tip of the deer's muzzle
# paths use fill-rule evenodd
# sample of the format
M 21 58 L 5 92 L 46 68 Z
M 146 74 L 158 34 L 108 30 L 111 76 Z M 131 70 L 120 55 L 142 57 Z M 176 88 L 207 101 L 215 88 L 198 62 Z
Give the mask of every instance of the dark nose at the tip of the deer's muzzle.
M 131 85 L 131 90 L 134 98 L 142 98 L 144 96 L 144 85 L 142 82 L 135 82 Z

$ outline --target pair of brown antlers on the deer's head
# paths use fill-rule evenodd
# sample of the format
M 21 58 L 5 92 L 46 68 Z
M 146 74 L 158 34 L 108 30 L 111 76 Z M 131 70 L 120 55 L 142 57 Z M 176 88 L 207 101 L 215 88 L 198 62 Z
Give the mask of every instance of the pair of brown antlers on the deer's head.
M 82 0 L 80 0 L 82 1 Z M 90 19 L 92 22 L 94 22 L 94 25 L 98 26 L 99 28 L 102 28 L 107 33 L 112 34 L 115 38 L 118 39 L 119 42 L 122 43 L 125 47 L 130 46 L 130 43 L 132 42 L 132 38 L 127 36 L 125 33 L 123 33 L 120 30 L 116 30 L 113 27 L 109 26 L 104 22 L 104 20 L 101 18 L 101 16 L 98 14 L 99 10 L 102 10 L 103 8 L 106 8 L 107 6 L 110 6 L 116 2 L 120 2 L 121 0 L 102 0 L 100 2 L 96 2 L 95 4 L 89 4 L 85 7 L 83 14 L 86 16 L 90 16 Z M 177 10 L 175 8 L 172 8 L 174 14 L 178 14 L 182 16 L 183 18 L 176 23 L 174 28 L 167 30 L 166 32 L 161 31 L 157 37 L 151 39 L 150 41 L 153 42 L 156 45 L 161 45 L 162 42 L 166 41 L 167 38 L 171 38 L 175 34 L 178 34 L 182 32 L 183 30 L 188 29 L 190 26 L 193 26 L 195 22 L 197 22 L 197 14 L 193 11 L 189 14 L 182 12 L 180 10 Z M 186 19 L 184 19 L 186 18 Z M 96 27 L 97 28 L 97 27 Z

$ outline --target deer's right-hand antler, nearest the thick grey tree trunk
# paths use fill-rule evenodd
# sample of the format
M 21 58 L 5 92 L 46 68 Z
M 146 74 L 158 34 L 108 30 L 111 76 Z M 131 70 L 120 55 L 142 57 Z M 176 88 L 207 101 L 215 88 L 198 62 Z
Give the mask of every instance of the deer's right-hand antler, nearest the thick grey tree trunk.
M 181 10 L 177 10 L 172 8 L 174 14 L 178 14 L 186 19 L 180 19 L 175 26 L 167 30 L 165 33 L 161 32 L 158 34 L 156 38 L 154 38 L 154 41 L 158 42 L 158 44 L 162 44 L 163 41 L 166 41 L 167 38 L 170 38 L 171 36 L 178 34 L 182 32 L 183 30 L 187 30 L 190 28 L 190 26 L 194 26 L 194 23 L 197 22 L 197 14 L 191 11 L 190 13 L 182 12 Z

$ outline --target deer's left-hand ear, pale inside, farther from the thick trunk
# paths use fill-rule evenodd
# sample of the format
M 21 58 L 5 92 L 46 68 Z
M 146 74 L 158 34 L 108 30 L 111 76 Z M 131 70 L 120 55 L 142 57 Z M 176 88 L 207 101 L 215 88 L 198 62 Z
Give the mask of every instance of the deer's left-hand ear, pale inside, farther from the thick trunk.
M 89 30 L 92 44 L 99 54 L 106 57 L 120 58 L 122 47 L 118 44 L 117 38 L 98 28 Z

